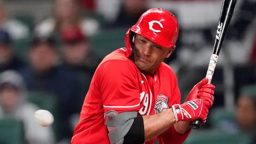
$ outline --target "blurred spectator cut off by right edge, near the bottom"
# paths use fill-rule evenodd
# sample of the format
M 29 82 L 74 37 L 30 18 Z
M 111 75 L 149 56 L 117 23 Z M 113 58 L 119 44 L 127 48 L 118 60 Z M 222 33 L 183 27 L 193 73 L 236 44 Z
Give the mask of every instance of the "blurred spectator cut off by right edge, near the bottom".
M 256 85 L 245 86 L 237 102 L 237 123 L 243 132 L 253 135 L 256 143 Z

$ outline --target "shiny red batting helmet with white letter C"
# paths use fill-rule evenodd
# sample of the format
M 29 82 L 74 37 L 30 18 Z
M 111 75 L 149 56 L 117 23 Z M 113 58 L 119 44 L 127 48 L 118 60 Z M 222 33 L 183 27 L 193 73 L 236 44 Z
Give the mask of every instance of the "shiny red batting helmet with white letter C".
M 131 41 L 135 33 L 166 48 L 175 45 L 179 26 L 176 17 L 167 10 L 160 8 L 144 12 L 138 22 L 130 28 L 125 36 L 126 57 L 132 54 Z

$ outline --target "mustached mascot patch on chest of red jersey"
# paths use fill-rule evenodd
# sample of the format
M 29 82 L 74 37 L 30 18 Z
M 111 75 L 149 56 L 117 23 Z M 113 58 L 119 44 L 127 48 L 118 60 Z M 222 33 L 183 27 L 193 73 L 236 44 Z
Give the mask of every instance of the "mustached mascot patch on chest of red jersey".
M 158 95 L 156 105 L 155 105 L 156 114 L 158 114 L 162 111 L 165 111 L 167 109 L 169 109 L 168 98 L 164 95 Z

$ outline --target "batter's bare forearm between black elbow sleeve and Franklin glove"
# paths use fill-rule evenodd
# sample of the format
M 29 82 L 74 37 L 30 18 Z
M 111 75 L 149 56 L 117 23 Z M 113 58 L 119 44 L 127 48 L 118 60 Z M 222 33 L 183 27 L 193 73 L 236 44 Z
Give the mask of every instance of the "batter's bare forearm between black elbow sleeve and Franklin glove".
M 145 142 L 157 137 L 176 123 L 172 108 L 156 115 L 142 117 L 144 121 Z

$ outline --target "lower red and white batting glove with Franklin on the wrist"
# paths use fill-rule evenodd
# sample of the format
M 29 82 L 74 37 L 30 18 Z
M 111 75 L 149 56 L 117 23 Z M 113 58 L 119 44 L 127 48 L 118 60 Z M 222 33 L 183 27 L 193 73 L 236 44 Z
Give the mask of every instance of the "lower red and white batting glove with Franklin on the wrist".
M 208 101 L 202 99 L 194 99 L 181 105 L 172 105 L 176 122 L 195 121 L 201 119 L 203 125 L 206 122 L 206 118 L 209 112 L 209 108 L 205 104 L 208 104 Z

